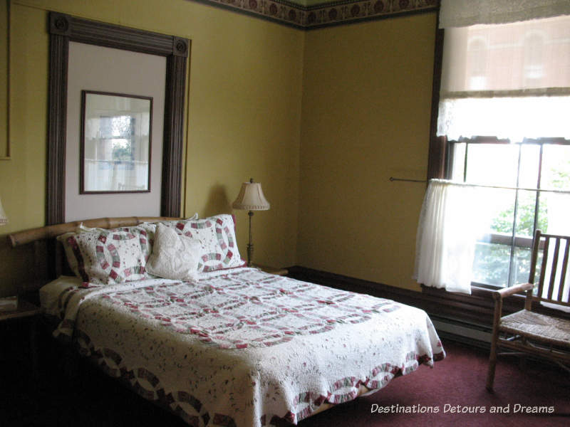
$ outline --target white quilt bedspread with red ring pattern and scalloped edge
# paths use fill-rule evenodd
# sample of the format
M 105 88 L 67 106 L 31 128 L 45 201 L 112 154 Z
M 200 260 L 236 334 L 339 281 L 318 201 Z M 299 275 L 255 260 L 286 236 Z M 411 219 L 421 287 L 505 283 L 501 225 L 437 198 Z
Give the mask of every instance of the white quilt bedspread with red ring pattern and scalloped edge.
M 252 268 L 57 292 L 55 334 L 191 426 L 297 423 L 445 357 L 423 310 Z

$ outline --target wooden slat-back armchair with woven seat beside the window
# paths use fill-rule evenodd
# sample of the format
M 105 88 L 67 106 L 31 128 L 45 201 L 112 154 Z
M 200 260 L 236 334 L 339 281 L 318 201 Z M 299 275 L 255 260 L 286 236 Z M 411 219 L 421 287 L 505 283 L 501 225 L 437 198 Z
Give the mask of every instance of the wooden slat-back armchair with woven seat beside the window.
M 534 283 L 537 260 L 541 251 L 542 261 L 539 281 Z M 491 354 L 487 372 L 487 390 L 492 391 L 497 354 L 534 355 L 559 364 L 570 371 L 565 364 L 570 364 L 570 320 L 564 318 L 564 311 L 551 310 L 556 314 L 543 315 L 533 312 L 534 307 L 543 303 L 550 307 L 570 307 L 570 273 L 568 271 L 570 236 L 534 233 L 532 246 L 529 283 L 515 285 L 493 292 L 494 320 L 491 338 Z M 537 285 L 537 286 L 536 286 Z M 537 290 L 536 294 L 534 290 Z M 502 316 L 505 297 L 516 292 L 527 292 L 524 310 Z M 557 315 L 557 312 L 560 315 Z M 509 352 L 497 353 L 497 347 L 504 347 Z

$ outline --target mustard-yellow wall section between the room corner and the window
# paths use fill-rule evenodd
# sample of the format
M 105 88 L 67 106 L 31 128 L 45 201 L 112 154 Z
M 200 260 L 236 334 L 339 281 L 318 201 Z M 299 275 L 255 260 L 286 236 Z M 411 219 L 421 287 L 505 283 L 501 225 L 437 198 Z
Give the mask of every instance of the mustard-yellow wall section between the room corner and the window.
M 305 38 L 297 262 L 418 289 L 435 14 Z

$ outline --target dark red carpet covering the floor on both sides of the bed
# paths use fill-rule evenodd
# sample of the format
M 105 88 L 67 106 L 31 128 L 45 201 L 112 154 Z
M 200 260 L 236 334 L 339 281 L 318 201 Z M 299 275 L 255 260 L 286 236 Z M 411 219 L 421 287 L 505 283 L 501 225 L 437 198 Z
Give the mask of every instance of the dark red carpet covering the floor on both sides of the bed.
M 433 369 L 422 366 L 371 396 L 331 408 L 299 426 L 570 426 L 570 374 L 530 362 L 525 372 L 516 359 L 499 359 L 495 392 L 489 394 L 484 388 L 488 352 L 445 340 L 443 344 L 447 358 Z M 16 347 L 14 352 L 0 351 L 4 367 L 0 369 L 0 426 L 186 426 L 87 364 L 81 379 L 69 384 L 55 363 L 43 364 L 40 379 L 26 379 L 25 360 Z M 390 408 L 387 413 L 371 413 L 374 404 Z M 479 407 L 484 413 L 452 413 L 450 408 L 457 406 L 461 411 Z M 554 414 L 521 413 L 522 406 L 530 410 L 551 406 Z M 509 413 L 490 413 L 492 408 L 508 408 Z

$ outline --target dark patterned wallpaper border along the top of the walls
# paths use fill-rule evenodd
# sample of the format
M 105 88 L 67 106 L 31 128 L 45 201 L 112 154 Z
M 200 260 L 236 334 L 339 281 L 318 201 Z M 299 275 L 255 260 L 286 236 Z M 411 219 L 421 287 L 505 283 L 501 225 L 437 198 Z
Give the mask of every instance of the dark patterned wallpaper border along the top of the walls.
M 345 0 L 300 6 L 285 0 L 189 0 L 309 30 L 439 9 L 440 0 Z

